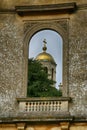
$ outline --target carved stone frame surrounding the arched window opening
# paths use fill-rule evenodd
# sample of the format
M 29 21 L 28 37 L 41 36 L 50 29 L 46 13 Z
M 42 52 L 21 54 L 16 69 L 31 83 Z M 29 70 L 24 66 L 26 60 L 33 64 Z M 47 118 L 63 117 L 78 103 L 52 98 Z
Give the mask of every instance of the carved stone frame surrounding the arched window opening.
M 61 20 L 44 20 L 44 21 L 24 21 L 24 86 L 25 86 L 25 95 L 27 94 L 27 79 L 28 79 L 28 46 L 30 43 L 31 38 L 33 35 L 41 30 L 53 30 L 57 32 L 63 40 L 63 96 L 68 96 L 68 77 L 69 77 L 69 66 L 68 66 L 68 59 L 69 59 L 69 43 L 68 43 L 68 22 L 67 19 L 62 21 Z

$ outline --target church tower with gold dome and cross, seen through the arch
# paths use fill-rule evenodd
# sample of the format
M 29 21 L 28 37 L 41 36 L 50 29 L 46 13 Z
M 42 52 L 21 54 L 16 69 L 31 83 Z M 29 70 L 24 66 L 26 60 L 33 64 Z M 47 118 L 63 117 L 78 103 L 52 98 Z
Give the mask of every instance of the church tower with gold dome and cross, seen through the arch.
M 46 40 L 44 40 L 43 42 L 44 42 L 44 46 L 42 48 L 43 52 L 38 54 L 35 59 L 41 62 L 45 72 L 48 73 L 48 78 L 52 79 L 53 81 L 56 81 L 56 62 L 54 58 L 49 53 L 46 52 L 47 51 Z

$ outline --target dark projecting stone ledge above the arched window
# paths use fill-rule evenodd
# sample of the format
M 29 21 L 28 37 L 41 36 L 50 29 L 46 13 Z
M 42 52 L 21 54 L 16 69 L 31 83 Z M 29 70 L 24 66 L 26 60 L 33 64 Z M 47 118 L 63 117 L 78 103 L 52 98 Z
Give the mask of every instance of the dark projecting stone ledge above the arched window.
M 71 13 L 77 8 L 76 3 L 61 3 L 52 5 L 27 5 L 27 6 L 15 6 L 15 10 L 19 15 L 30 15 L 37 13 L 47 13 L 47 12 L 58 12 L 58 13 Z

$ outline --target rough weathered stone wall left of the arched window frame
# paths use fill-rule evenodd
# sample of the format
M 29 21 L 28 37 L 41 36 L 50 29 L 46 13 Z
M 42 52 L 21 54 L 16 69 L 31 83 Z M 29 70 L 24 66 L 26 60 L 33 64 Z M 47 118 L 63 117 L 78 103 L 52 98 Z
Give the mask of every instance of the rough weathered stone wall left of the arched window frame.
M 0 14 L 0 116 L 15 112 L 24 96 L 23 29 L 15 14 Z

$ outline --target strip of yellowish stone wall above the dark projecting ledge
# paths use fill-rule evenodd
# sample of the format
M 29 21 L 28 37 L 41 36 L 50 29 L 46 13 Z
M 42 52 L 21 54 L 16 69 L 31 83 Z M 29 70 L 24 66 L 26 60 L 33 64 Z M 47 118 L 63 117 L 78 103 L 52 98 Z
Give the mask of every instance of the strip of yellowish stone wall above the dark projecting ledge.
M 46 5 L 46 4 L 59 4 L 67 2 L 77 2 L 77 4 L 87 4 L 87 0 L 0 0 L 0 8 L 12 8 L 14 5 Z

